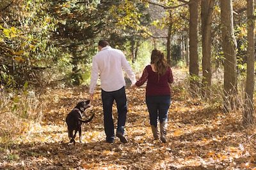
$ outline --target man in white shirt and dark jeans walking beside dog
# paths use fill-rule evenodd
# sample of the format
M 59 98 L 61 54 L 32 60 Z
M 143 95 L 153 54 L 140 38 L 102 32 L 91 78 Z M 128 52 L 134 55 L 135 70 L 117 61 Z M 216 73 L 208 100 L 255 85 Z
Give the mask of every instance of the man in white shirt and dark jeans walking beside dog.
M 104 130 L 106 142 L 113 143 L 114 123 L 112 117 L 112 106 L 114 100 L 118 110 L 118 123 L 116 136 L 122 143 L 127 143 L 124 136 L 124 125 L 127 113 L 127 99 L 125 94 L 124 74 L 128 74 L 132 84 L 136 83 L 135 75 L 132 72 L 129 62 L 125 59 L 122 51 L 109 46 L 108 41 L 99 41 L 99 52 L 92 59 L 92 74 L 90 83 L 90 101 L 93 101 L 93 92 L 97 85 L 100 74 L 101 98 L 104 112 Z

